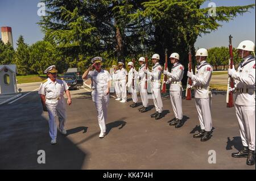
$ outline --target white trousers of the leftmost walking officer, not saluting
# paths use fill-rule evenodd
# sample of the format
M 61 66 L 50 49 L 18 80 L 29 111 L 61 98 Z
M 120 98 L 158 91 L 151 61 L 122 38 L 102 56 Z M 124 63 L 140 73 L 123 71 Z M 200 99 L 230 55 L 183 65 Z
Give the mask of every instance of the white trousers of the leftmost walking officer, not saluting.
M 66 121 L 66 109 L 65 109 L 65 99 L 60 100 L 49 100 L 46 99 L 46 107 L 49 115 L 49 136 L 51 139 L 57 138 L 57 124 L 56 116 L 59 117 L 59 129 L 64 129 Z

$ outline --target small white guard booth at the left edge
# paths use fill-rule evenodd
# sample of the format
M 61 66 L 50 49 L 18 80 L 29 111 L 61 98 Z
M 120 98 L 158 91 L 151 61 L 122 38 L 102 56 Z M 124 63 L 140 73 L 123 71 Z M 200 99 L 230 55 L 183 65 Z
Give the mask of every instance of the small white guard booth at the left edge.
M 16 65 L 0 65 L 0 95 L 16 94 Z

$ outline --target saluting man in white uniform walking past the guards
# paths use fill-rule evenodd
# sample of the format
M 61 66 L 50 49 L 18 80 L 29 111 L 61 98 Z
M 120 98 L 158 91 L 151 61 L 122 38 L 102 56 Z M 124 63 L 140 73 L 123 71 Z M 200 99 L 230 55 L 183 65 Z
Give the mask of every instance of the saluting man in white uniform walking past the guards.
M 97 110 L 98 124 L 101 133 L 99 138 L 106 135 L 106 119 L 109 104 L 110 81 L 112 80 L 108 71 L 101 69 L 101 57 L 92 58 L 92 65 L 82 75 L 83 79 L 92 80 L 92 100 Z M 90 71 L 95 68 L 93 71 Z

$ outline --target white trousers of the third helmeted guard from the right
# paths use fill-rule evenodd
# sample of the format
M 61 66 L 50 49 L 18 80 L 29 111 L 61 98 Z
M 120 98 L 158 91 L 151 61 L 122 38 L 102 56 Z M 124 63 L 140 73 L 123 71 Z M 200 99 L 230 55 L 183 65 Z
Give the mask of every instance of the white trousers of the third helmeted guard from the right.
M 176 119 L 183 119 L 181 91 L 170 91 L 172 109 Z

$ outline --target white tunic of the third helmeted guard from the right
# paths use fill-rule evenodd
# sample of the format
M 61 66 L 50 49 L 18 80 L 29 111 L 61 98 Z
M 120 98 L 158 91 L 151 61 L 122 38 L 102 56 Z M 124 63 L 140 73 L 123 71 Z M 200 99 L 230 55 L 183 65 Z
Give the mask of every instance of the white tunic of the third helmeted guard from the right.
M 167 73 L 170 78 L 170 91 L 180 91 L 181 80 L 183 79 L 184 75 L 184 66 L 181 65 L 179 62 L 175 63 L 172 67 L 171 73 Z

